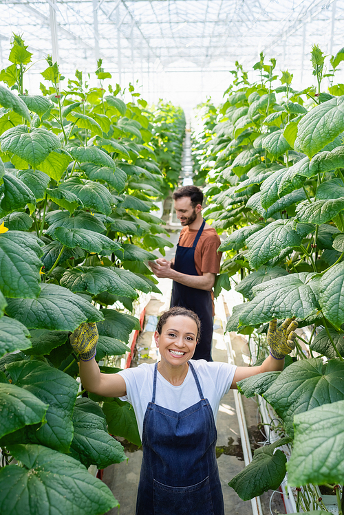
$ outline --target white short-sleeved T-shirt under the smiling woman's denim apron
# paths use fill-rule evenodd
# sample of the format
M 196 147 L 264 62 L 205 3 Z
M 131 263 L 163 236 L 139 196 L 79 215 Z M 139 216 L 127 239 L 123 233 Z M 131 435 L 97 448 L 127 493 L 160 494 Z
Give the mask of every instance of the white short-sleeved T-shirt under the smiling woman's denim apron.
M 206 360 L 191 360 L 191 363 L 197 373 L 203 395 L 211 405 L 216 423 L 219 402 L 228 393 L 237 367 L 228 363 Z M 155 363 L 142 363 L 136 368 L 118 372 L 127 386 L 127 395 L 120 399 L 132 404 L 141 439 L 144 414 L 153 394 L 154 366 Z M 158 371 L 155 404 L 180 413 L 199 401 L 200 394 L 190 367 L 180 386 L 173 386 Z

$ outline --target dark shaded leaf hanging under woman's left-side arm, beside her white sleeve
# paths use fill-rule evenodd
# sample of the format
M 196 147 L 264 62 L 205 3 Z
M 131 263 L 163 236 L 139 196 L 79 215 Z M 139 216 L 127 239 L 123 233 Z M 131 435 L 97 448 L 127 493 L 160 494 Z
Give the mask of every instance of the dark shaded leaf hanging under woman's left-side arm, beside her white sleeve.
M 141 439 L 138 432 L 138 423 L 133 410 L 133 406 L 129 402 L 123 402 L 120 399 L 107 399 L 103 404 L 103 411 L 107 418 L 107 426 L 111 435 L 118 435 L 141 445 Z

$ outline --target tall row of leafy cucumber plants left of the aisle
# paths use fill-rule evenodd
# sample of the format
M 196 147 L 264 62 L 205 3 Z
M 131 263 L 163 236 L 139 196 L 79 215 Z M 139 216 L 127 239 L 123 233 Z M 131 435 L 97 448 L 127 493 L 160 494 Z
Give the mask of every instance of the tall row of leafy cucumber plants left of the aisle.
M 98 360 L 129 350 L 133 303 L 159 292 L 143 261 L 172 246 L 151 213 L 164 177 L 132 86 L 105 89 L 99 61 L 100 87 L 76 71 L 63 88 L 48 57 L 30 95 L 31 58 L 14 36 L 0 73 L 0 511 L 101 514 L 118 502 L 87 468 L 126 459 L 111 435 L 140 437 L 128 403 L 80 391 L 68 336 L 96 322 Z

